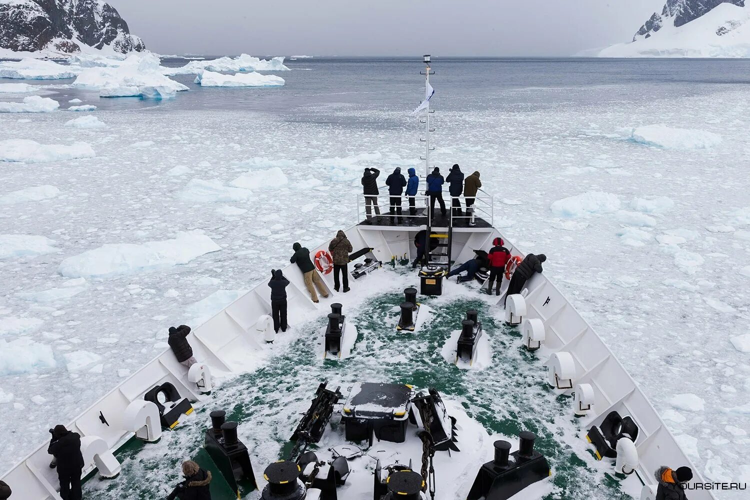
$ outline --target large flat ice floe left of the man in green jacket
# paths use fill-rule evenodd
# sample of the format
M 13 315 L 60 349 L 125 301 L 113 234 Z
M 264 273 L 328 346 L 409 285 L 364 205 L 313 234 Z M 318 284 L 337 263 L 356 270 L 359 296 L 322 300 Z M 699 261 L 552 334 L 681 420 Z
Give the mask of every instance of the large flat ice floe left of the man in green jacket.
M 182 232 L 177 238 L 142 244 L 105 244 L 68 257 L 58 271 L 67 277 L 105 277 L 130 274 L 172 265 L 187 264 L 221 247 L 198 231 Z

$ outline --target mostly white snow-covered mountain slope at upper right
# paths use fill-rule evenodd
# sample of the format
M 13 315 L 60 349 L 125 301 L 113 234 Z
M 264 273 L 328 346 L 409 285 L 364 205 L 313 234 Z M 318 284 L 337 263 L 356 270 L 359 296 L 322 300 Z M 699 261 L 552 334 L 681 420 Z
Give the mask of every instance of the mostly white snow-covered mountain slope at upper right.
M 628 43 L 599 57 L 750 57 L 750 1 L 667 0 Z

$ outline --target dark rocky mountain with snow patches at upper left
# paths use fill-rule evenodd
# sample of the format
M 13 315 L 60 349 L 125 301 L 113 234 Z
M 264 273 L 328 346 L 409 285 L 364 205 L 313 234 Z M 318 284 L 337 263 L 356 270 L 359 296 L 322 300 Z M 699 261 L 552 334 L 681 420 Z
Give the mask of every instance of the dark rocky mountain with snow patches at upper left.
M 145 49 L 101 0 L 0 0 L 0 49 L 44 54 Z

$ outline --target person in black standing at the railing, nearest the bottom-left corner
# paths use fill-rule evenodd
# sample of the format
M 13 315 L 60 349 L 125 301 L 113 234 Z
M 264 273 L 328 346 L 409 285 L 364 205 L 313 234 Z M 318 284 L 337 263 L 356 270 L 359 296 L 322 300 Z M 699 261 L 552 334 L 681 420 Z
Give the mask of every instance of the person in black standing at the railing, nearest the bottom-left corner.
M 81 473 L 83 472 L 83 455 L 81 454 L 81 435 L 71 433 L 64 425 L 50 429 L 52 439 L 47 453 L 55 457 L 50 467 L 57 468 L 60 480 L 60 498 L 62 500 L 81 500 Z

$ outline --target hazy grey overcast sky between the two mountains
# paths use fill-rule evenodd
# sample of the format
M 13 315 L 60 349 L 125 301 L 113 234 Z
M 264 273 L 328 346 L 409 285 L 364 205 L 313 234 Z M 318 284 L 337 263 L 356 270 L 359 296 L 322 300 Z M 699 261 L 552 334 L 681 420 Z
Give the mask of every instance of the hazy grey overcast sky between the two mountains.
M 665 0 L 109 0 L 162 54 L 572 55 Z

